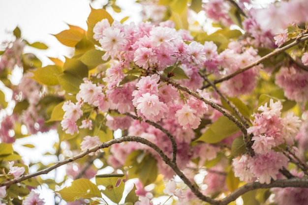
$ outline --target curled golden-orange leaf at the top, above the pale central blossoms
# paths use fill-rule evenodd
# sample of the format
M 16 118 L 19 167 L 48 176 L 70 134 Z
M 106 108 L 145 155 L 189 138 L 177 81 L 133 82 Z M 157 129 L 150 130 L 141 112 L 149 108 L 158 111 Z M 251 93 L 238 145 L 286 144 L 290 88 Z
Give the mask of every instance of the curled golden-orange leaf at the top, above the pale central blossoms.
M 87 20 L 87 25 L 88 25 L 87 37 L 89 40 L 96 43 L 97 45 L 99 45 L 99 43 L 95 39 L 93 39 L 93 35 L 94 35 L 93 28 L 98 22 L 100 22 L 103 19 L 108 19 L 110 25 L 114 21 L 111 15 L 105 9 L 102 9 L 102 8 L 93 9 L 91 7 L 91 13 Z

